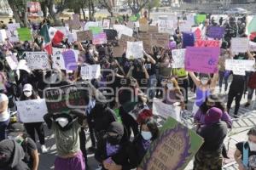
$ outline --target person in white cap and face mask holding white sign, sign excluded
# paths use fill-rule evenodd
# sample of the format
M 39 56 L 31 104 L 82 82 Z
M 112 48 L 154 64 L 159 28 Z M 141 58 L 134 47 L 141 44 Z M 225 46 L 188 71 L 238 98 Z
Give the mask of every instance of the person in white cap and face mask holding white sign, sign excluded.
M 23 87 L 23 93 L 20 96 L 20 101 L 29 100 L 29 99 L 40 99 L 40 97 L 35 93 L 31 84 L 25 84 Z M 38 138 L 41 144 L 42 153 L 46 153 L 45 141 L 44 141 L 44 124 L 43 122 L 30 122 L 24 123 L 26 132 L 29 136 L 36 142 L 35 131 L 38 133 Z

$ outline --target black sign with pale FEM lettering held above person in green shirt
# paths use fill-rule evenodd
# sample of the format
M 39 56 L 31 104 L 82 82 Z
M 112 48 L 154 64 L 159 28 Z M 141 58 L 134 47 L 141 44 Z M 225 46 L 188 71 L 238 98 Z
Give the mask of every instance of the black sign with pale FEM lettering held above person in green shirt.
M 44 90 L 44 99 L 49 113 L 69 111 L 70 109 L 84 109 L 86 105 L 84 96 L 88 95 L 88 90 L 75 85 L 46 88 Z

